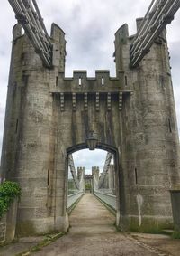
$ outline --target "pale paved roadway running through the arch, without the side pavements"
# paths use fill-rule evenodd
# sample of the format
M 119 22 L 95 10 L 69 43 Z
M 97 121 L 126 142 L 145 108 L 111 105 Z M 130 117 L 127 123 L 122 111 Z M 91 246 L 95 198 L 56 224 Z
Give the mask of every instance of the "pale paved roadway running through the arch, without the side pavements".
M 35 253 L 40 256 L 160 256 L 150 246 L 117 232 L 115 217 L 92 194 L 85 194 L 71 213 L 67 235 Z

